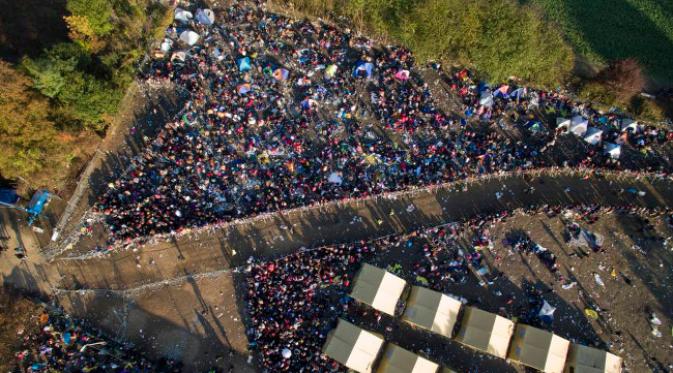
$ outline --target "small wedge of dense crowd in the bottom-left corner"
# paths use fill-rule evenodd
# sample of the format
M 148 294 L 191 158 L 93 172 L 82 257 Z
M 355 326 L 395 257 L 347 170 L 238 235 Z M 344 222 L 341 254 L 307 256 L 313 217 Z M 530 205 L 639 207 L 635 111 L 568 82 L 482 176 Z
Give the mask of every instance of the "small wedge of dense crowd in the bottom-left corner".
M 43 311 L 39 329 L 23 332 L 16 372 L 180 372 L 179 363 L 154 363 L 131 346 L 114 342 L 61 313 Z

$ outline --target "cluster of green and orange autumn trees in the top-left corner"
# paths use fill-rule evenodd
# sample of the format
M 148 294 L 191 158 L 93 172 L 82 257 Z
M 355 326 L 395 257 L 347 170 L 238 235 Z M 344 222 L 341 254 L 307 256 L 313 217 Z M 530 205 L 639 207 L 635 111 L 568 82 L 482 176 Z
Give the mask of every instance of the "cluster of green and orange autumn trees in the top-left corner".
M 0 174 L 34 187 L 63 185 L 172 20 L 152 0 L 67 0 L 67 10 L 70 42 L 24 56 L 21 71 L 0 61 Z

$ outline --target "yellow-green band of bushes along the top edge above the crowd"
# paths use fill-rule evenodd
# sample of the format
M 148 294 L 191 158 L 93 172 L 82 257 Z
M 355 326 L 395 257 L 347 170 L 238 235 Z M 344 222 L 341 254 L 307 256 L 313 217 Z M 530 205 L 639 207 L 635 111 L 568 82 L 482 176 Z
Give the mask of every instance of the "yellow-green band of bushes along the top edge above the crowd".
M 489 0 L 295 0 L 305 12 L 335 13 L 411 48 L 421 61 L 476 67 L 487 79 L 510 76 L 554 86 L 574 64 L 571 48 L 531 7 Z

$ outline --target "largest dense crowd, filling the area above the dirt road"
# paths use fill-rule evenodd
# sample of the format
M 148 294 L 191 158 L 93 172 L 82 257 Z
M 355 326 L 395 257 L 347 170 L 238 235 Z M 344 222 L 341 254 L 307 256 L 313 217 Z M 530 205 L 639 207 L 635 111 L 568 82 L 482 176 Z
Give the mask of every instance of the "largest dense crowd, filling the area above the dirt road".
M 259 2 L 234 2 L 215 22 L 179 11 L 148 78 L 169 79 L 188 99 L 95 206 L 117 242 L 562 164 L 550 150 L 553 126 L 531 125 L 549 123 L 550 113 L 584 115 L 605 128 L 606 140 L 617 137 L 644 157 L 673 135 L 645 126 L 622 132 L 619 116 L 560 93 L 489 87 L 467 70 L 432 64 L 426 70 L 462 100 L 445 112 L 433 98 L 439 85 L 423 80 L 403 48 L 292 20 Z M 522 136 L 511 136 L 521 128 Z M 650 169 L 668 171 L 665 158 L 649 159 Z M 570 162 L 628 167 L 595 147 Z

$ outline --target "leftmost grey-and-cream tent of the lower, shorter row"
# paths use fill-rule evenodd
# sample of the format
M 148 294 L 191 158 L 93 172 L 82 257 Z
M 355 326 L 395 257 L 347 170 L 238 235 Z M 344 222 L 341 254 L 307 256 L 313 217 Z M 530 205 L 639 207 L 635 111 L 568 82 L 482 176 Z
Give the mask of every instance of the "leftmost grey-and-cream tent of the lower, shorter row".
M 323 353 L 360 373 L 369 373 L 383 345 L 383 338 L 339 319 L 327 336 Z

